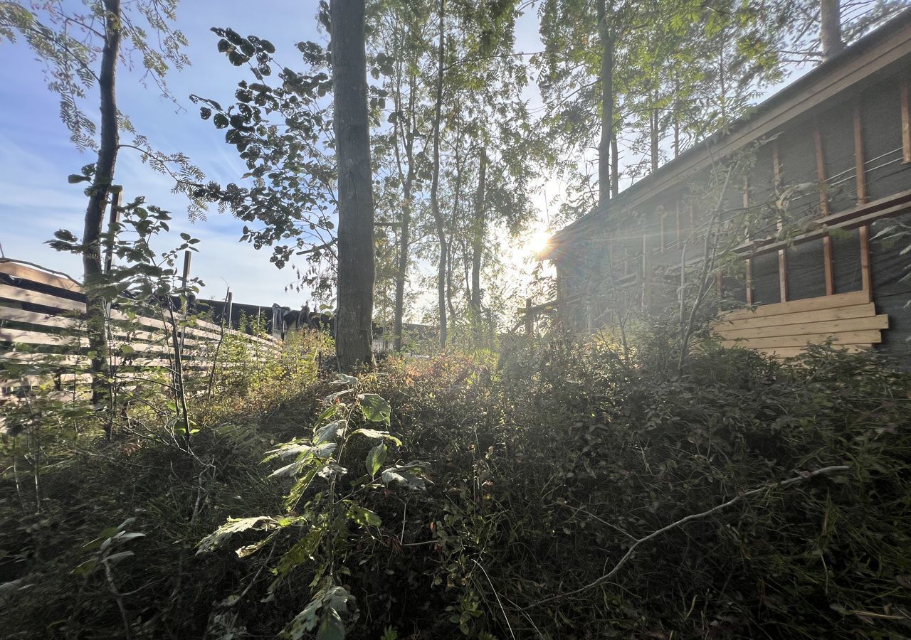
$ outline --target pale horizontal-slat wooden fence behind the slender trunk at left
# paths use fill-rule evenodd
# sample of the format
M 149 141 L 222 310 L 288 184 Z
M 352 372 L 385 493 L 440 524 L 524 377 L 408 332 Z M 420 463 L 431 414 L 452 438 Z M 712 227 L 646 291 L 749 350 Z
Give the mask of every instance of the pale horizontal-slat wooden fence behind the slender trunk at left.
M 61 381 L 87 380 L 85 311 L 86 298 L 77 281 L 0 259 L 0 402 L 49 378 L 56 378 L 58 388 Z M 110 319 L 110 364 L 115 371 L 173 371 L 169 318 L 131 318 L 113 309 Z M 211 370 L 216 346 L 226 336 L 240 339 L 253 360 L 281 350 L 280 340 L 223 329 L 204 320 L 189 320 L 179 330 L 182 368 L 188 376 Z

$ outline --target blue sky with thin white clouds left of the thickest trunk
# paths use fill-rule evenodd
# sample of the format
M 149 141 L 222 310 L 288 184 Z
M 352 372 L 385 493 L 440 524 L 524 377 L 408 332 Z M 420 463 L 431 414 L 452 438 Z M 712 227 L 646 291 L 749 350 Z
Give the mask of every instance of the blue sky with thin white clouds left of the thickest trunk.
M 195 93 L 230 102 L 237 81 L 246 76 L 218 53 L 218 38 L 209 29 L 230 26 L 243 35 L 268 38 L 278 48 L 281 62 L 294 66 L 299 61 L 294 43 L 322 37 L 315 28 L 316 11 L 316 0 L 183 0 L 178 24 L 189 38 L 192 66 L 168 76 L 179 107 L 159 97 L 155 86 L 142 86 L 138 71 L 124 66 L 118 77 L 119 107 L 153 147 L 187 153 L 207 178 L 239 181 L 247 169 L 235 149 L 224 143 L 222 132 L 210 122 L 200 120 L 199 108 L 189 101 L 189 94 Z M 47 90 L 43 66 L 25 43 L 4 41 L 0 55 L 4 61 L 0 66 L 0 243 L 8 258 L 63 270 L 78 279 L 81 260 L 44 242 L 56 229 L 81 235 L 85 184 L 67 184 L 67 176 L 95 157 L 90 151 L 79 153 L 69 142 L 58 116 L 57 97 Z M 305 301 L 306 294 L 285 291 L 293 273 L 276 269 L 269 262 L 268 249 L 257 251 L 238 241 L 239 220 L 213 210 L 208 219 L 191 224 L 185 198 L 171 194 L 169 178 L 143 165 L 135 152 L 120 153 L 117 182 L 124 185 L 125 199 L 145 195 L 149 204 L 172 212 L 171 238 L 159 239 L 157 249 L 176 246 L 180 231 L 201 239 L 200 253 L 192 262 L 193 274 L 207 285 L 201 296 L 220 299 L 230 285 L 235 300 L 251 304 L 299 307 Z

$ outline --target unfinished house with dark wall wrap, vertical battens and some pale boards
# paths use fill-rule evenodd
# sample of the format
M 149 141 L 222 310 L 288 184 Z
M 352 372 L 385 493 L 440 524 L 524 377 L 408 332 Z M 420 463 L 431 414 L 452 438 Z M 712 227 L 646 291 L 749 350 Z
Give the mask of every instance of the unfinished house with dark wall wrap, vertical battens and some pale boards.
M 909 83 L 911 11 L 558 231 L 560 320 L 672 304 L 708 237 L 718 289 L 750 305 L 717 326 L 726 343 L 906 354 L 911 236 L 884 230 L 911 225 Z

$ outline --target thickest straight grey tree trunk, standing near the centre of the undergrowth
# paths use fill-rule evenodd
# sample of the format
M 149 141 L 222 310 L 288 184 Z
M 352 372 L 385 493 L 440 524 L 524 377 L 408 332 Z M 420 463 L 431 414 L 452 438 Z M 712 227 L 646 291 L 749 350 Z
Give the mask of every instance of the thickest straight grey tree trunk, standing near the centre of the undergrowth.
M 332 0 L 333 105 L 338 163 L 338 318 L 341 371 L 373 366 L 374 193 L 367 120 L 365 0 Z

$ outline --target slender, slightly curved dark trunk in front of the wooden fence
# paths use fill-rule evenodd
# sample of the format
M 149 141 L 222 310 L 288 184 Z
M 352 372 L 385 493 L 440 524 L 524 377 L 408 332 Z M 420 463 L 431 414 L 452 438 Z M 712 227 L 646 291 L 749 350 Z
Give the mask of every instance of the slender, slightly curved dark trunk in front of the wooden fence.
M 101 229 L 105 208 L 114 181 L 120 137 L 117 124 L 117 63 L 120 51 L 120 0 L 104 0 L 105 44 L 101 51 L 101 73 L 98 91 L 101 98 L 101 139 L 91 196 L 86 208 L 86 225 L 82 233 L 82 269 L 86 284 L 86 329 L 88 350 L 92 352 L 92 401 L 105 404 L 110 396 L 107 383 L 106 300 L 100 295 Z M 108 427 L 108 436 L 110 436 Z

